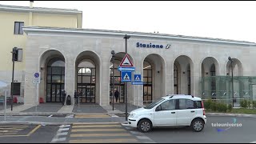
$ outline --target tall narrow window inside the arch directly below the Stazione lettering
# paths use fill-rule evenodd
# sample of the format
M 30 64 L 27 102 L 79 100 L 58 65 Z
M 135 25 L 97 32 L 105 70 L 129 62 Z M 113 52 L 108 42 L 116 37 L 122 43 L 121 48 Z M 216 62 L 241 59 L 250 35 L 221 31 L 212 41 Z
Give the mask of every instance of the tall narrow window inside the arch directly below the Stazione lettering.
M 152 102 L 152 66 L 150 62 L 143 62 L 143 101 Z

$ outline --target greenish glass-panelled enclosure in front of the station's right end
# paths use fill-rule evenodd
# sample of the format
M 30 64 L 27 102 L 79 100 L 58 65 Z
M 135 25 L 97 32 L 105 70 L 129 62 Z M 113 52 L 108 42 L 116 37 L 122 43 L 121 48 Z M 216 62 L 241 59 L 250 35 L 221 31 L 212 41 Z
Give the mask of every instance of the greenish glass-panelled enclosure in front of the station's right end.
M 231 76 L 203 77 L 200 84 L 202 99 L 218 99 L 227 104 L 234 99 L 234 105 L 239 105 L 241 99 L 256 100 L 256 77 L 234 76 L 233 92 Z

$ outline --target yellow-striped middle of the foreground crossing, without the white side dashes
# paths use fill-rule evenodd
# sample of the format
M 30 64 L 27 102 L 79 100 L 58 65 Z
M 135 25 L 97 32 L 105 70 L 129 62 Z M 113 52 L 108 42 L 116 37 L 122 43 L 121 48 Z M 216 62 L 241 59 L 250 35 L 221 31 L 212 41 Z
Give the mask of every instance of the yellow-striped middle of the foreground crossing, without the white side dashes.
M 70 143 L 134 143 L 139 142 L 118 122 L 102 124 L 74 124 L 70 130 Z

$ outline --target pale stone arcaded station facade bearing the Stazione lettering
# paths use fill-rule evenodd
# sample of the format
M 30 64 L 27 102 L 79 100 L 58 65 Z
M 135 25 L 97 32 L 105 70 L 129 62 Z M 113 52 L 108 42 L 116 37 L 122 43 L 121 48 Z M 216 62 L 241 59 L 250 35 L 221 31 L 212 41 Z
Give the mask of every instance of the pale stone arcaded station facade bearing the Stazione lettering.
M 142 74 L 145 82 L 142 86 L 128 82 L 128 103 L 141 105 L 166 94 L 202 97 L 202 77 L 226 76 L 231 69 L 234 76 L 253 76 L 256 70 L 254 42 L 43 26 L 25 26 L 23 30 L 27 37 L 25 104 L 34 104 L 36 93 L 45 102 L 61 102 L 61 90 L 73 100 L 76 90 L 81 92 L 81 102 L 109 105 L 112 50 L 114 89 L 120 92 L 118 103 L 125 102 L 118 66 L 125 56 L 126 34 L 130 35 L 127 53 L 135 66 L 133 74 Z M 42 76 L 38 89 L 32 82 L 34 72 Z

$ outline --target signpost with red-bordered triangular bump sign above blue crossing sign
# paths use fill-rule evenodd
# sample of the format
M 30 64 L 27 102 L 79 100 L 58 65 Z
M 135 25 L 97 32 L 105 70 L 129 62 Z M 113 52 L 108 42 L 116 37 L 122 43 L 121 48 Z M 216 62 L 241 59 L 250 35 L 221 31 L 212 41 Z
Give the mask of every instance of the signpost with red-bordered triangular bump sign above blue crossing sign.
M 126 53 L 125 57 L 122 58 L 122 62 L 120 63 L 118 70 L 121 71 L 121 82 L 131 82 L 131 72 L 135 70 L 134 64 L 130 61 L 129 55 Z M 125 87 L 125 101 L 126 101 L 126 121 L 127 121 L 127 96 L 128 96 L 128 86 L 126 83 Z

